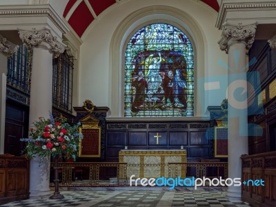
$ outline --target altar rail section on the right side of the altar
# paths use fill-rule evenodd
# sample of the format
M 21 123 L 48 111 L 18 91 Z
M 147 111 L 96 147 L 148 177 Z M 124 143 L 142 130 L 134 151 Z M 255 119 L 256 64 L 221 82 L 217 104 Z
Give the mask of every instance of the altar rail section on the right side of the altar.
M 178 175 L 177 166 L 184 166 L 184 168 L 186 168 L 186 177 L 208 177 L 208 168 L 216 168 L 217 173 L 215 177 L 223 177 L 225 179 L 228 176 L 227 162 L 172 162 L 168 163 L 168 165 L 168 177 L 175 177 L 175 175 Z M 195 168 L 195 175 L 188 174 L 189 168 Z M 221 173 L 221 168 L 223 173 Z M 220 176 L 221 174 L 223 176 Z

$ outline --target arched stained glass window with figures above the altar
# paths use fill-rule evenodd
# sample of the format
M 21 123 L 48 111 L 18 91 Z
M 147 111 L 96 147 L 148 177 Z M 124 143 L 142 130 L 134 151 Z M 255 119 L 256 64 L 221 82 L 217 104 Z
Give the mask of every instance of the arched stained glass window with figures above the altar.
M 125 117 L 193 116 L 193 46 L 175 26 L 152 23 L 135 32 L 124 75 Z

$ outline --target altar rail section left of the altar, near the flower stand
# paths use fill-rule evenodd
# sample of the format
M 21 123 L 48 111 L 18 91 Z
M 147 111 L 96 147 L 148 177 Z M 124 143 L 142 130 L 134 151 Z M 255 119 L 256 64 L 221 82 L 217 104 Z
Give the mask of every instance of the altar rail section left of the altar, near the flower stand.
M 117 184 L 127 184 L 126 164 L 124 162 L 59 162 L 59 168 L 62 170 L 62 184 L 72 183 L 72 172 L 75 168 L 89 168 L 89 184 L 99 184 L 99 168 L 117 167 Z M 54 166 L 51 163 L 51 166 Z M 120 175 L 119 175 L 120 168 Z

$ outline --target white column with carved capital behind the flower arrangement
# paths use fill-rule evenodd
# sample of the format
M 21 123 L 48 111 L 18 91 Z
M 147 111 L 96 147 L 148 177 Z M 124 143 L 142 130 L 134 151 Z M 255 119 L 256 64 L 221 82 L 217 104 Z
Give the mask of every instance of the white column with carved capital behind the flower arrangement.
M 32 76 L 30 87 L 30 126 L 39 117 L 49 118 L 52 112 L 52 53 L 55 56 L 64 47 L 50 30 L 19 30 L 23 43 L 33 48 Z M 40 198 L 50 195 L 50 157 L 40 162 L 39 157 L 30 161 L 30 197 Z

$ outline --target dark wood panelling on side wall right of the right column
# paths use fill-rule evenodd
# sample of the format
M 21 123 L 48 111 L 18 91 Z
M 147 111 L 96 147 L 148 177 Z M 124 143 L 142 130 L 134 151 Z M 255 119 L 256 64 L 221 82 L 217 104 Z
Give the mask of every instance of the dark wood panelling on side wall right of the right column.
M 254 72 L 254 74 L 259 74 L 260 88 L 255 92 L 258 95 L 259 91 L 264 91 L 265 99 L 263 100 L 263 106 L 262 101 L 259 101 L 259 105 L 262 107 L 261 109 L 264 109 L 263 112 L 258 112 L 258 106 L 255 106 L 252 110 L 255 110 L 256 113 L 248 117 L 248 123 L 258 124 L 263 128 L 262 136 L 248 137 L 249 155 L 276 150 L 276 130 L 274 132 L 272 129 L 273 125 L 276 125 L 276 97 L 271 98 L 269 95 L 271 83 L 276 79 L 276 50 L 270 48 L 267 40 L 256 40 L 249 51 L 249 60 L 253 58 L 257 59 L 257 63 L 250 66 L 248 79 L 251 79 L 250 73 L 252 74 Z M 258 81 L 258 78 L 255 77 L 255 80 Z M 248 92 L 248 94 L 253 94 L 253 92 Z M 253 98 L 251 96 L 248 99 L 248 103 Z

